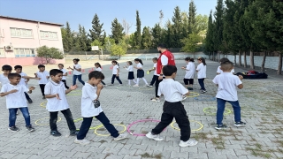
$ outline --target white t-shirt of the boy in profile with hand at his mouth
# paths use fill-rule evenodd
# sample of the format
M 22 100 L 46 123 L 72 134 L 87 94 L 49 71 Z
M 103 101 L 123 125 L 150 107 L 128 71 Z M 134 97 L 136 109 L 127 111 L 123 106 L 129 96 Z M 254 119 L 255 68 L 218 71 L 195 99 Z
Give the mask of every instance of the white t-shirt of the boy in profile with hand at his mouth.
M 99 113 L 103 112 L 103 109 L 100 107 L 95 108 L 93 101 L 96 100 L 96 87 L 91 86 L 86 83 L 84 87 L 82 87 L 82 95 L 81 95 L 81 117 L 95 117 L 98 116 Z

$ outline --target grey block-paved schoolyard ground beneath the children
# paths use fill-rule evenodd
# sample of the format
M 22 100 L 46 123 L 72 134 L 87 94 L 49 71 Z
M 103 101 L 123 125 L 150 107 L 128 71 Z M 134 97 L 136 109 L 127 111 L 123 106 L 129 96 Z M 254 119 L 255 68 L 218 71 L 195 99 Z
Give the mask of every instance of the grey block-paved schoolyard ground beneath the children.
M 124 66 L 120 64 L 120 66 Z M 282 104 L 282 79 L 243 79 L 244 88 L 238 91 L 241 103 L 242 121 L 247 126 L 236 128 L 233 126 L 233 109 L 226 104 L 226 116 L 224 123 L 228 128 L 223 131 L 214 129 L 216 117 L 216 95 L 217 87 L 211 80 L 216 74 L 218 63 L 208 61 L 207 76 L 205 85 L 207 93 L 198 95 L 199 85 L 195 79 L 195 90 L 192 95 L 183 102 L 187 110 L 191 128 L 191 138 L 198 140 L 195 147 L 180 148 L 180 131 L 173 129 L 178 125 L 168 126 L 164 133 L 164 141 L 149 140 L 146 137 L 131 135 L 124 132 L 125 126 L 134 121 L 142 119 L 160 119 L 162 113 L 161 102 L 150 102 L 154 96 L 154 88 L 149 87 L 126 87 L 109 86 L 101 93 L 100 101 L 102 108 L 111 123 L 120 132 L 128 134 L 128 139 L 114 141 L 103 127 L 97 127 L 100 123 L 94 119 L 92 128 L 88 132 L 87 139 L 91 144 L 81 146 L 73 143 L 75 137 L 69 136 L 64 116 L 59 113 L 61 120 L 57 122 L 58 131 L 61 137 L 50 136 L 49 113 L 44 109 L 46 100 L 42 100 L 40 88 L 36 80 L 31 79 L 30 86 L 36 86 L 33 94 L 30 95 L 34 103 L 29 104 L 29 111 L 32 123 L 36 131 L 27 133 L 24 118 L 19 113 L 16 125 L 20 131 L 10 132 L 8 128 L 8 111 L 5 109 L 5 98 L 0 98 L 0 158 L 107 158 L 107 159 L 135 159 L 135 158 L 200 158 L 200 159 L 221 159 L 221 158 L 282 158 L 283 157 L 283 104 Z M 144 61 L 145 70 L 152 67 L 151 61 Z M 176 80 L 182 82 L 184 71 L 180 67 L 184 61 L 177 61 L 179 68 Z M 84 65 L 82 64 L 84 67 Z M 196 63 L 195 63 L 196 66 Z M 66 66 L 67 67 L 67 66 Z M 86 68 L 87 66 L 85 66 Z M 103 65 L 103 73 L 106 76 L 104 81 L 111 81 L 111 65 Z M 50 66 L 49 66 L 50 68 Z M 25 67 L 24 67 L 25 69 Z M 88 79 L 88 69 L 83 74 L 84 80 Z M 244 72 L 235 68 L 235 72 Z M 27 72 L 33 74 L 33 72 Z M 121 69 L 120 79 L 126 85 L 127 72 Z M 149 81 L 152 74 L 145 75 Z M 196 76 L 195 76 L 196 78 Z M 71 84 L 71 77 L 67 83 Z M 143 81 L 140 81 L 143 85 Z M 118 84 L 118 81 L 115 81 Z M 68 102 L 73 113 L 77 128 L 80 128 L 80 90 L 81 84 L 76 91 L 67 95 Z M 35 124 L 36 123 L 36 124 Z M 134 134 L 148 133 L 156 121 L 147 121 L 132 125 L 130 131 Z M 96 133 L 95 132 L 96 129 Z M 105 136 L 106 135 L 106 136 Z

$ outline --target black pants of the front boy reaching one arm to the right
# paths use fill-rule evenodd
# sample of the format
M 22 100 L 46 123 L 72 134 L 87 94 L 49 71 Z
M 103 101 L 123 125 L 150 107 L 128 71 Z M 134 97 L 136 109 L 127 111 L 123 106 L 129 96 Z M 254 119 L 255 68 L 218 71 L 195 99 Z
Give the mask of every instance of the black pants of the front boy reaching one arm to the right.
M 63 113 L 65 120 L 67 121 L 68 127 L 70 131 L 75 131 L 76 126 L 73 123 L 73 116 L 70 109 L 67 110 L 61 110 Z M 51 131 L 57 131 L 57 117 L 58 117 L 58 111 L 50 112 L 50 129 Z

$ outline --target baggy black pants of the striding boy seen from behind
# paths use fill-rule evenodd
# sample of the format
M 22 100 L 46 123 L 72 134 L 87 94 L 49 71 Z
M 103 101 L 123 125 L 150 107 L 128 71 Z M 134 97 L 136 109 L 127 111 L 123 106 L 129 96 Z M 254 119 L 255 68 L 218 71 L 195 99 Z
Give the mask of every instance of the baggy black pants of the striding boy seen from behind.
M 180 140 L 187 141 L 191 135 L 191 128 L 187 117 L 187 111 L 181 102 L 164 102 L 161 121 L 152 129 L 151 133 L 159 134 L 165 127 L 172 123 L 175 117 L 176 123 L 180 127 Z

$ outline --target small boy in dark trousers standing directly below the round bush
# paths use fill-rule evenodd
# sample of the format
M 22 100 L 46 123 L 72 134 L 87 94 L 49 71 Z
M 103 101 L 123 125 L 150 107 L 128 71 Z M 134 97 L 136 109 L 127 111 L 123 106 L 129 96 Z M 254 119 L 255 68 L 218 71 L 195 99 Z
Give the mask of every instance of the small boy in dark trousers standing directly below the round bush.
M 38 66 L 39 71 L 34 73 L 35 78 L 40 78 L 38 80 L 38 84 L 39 87 L 41 87 L 41 91 L 42 91 L 42 99 L 45 99 L 45 95 L 44 95 L 44 87 L 46 85 L 46 83 L 48 82 L 48 80 L 50 79 L 50 73 L 45 71 L 45 66 L 42 64 L 39 64 Z

